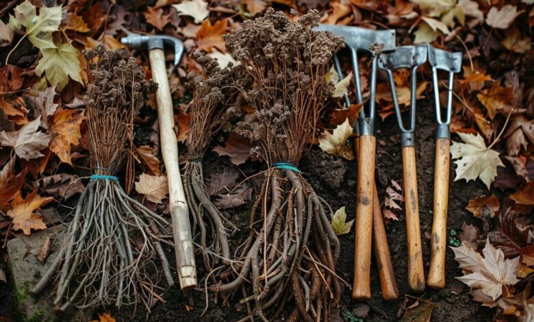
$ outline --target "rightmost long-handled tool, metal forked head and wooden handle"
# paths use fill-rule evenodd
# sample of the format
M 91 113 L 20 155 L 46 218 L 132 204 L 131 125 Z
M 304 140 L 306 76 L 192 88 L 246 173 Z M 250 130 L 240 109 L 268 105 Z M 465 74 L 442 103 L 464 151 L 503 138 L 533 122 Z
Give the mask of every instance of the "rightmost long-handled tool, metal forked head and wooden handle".
M 434 170 L 434 219 L 430 248 L 430 271 L 427 284 L 433 288 L 445 287 L 445 253 L 447 247 L 447 208 L 448 175 L 450 169 L 450 114 L 453 106 L 454 74 L 461 70 L 460 52 L 449 53 L 428 45 L 429 62 L 432 66 L 432 83 L 434 90 L 435 116 L 437 121 L 435 136 L 435 170 Z M 437 70 L 448 72 L 446 116 L 442 119 L 440 108 L 440 89 Z

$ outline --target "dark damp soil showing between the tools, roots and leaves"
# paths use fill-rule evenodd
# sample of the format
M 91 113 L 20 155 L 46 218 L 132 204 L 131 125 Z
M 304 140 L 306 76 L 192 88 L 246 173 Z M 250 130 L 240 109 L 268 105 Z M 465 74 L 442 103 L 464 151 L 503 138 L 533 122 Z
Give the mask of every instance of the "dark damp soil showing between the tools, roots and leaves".
M 433 158 L 434 158 L 434 112 L 427 100 L 421 101 L 418 106 L 417 126 L 416 126 L 416 149 L 417 149 L 417 169 L 418 169 L 418 193 L 420 206 L 420 227 L 422 234 L 422 246 L 424 254 L 424 269 L 428 273 L 430 258 L 430 234 L 432 230 L 432 207 L 433 207 Z M 377 186 L 381 202 L 385 195 L 385 188 L 390 185 L 390 180 L 402 179 L 402 161 L 400 135 L 395 123 L 394 116 L 388 117 L 384 122 L 377 121 Z M 204 166 L 211 167 L 214 164 L 227 163 L 225 158 L 219 158 L 216 153 L 208 153 Z M 336 210 L 342 206 L 346 207 L 348 220 L 355 216 L 355 193 L 357 182 L 357 171 L 355 162 L 338 160 L 322 153 L 315 148 L 301 162 L 300 169 L 303 175 L 316 189 L 316 193 L 325 199 Z M 254 173 L 259 169 L 259 164 L 246 164 L 242 167 L 244 173 Z M 481 223 L 465 210 L 468 201 L 478 195 L 487 194 L 485 186 L 480 182 L 470 182 L 464 180 L 453 182 L 454 171 L 451 169 L 450 175 L 450 197 L 448 210 L 448 227 L 450 230 L 461 230 L 462 223 L 472 223 L 481 226 Z M 492 191 L 497 193 L 498 191 Z M 241 226 L 246 225 L 247 206 L 242 206 L 229 214 L 234 221 L 240 221 Z M 399 299 L 396 301 L 383 301 L 380 293 L 380 283 L 376 266 L 372 267 L 372 299 L 366 302 L 357 302 L 351 299 L 351 292 L 348 288 L 344 290 L 342 297 L 342 317 L 343 321 L 360 321 L 354 317 L 348 317 L 347 313 L 353 312 L 356 308 L 361 308 L 362 304 L 369 306 L 368 317 L 364 321 L 395 321 L 405 312 L 405 307 L 414 302 L 416 297 L 423 297 L 435 303 L 431 321 L 491 321 L 494 310 L 485 308 L 470 299 L 469 288 L 455 279 L 461 275 L 461 270 L 457 268 L 453 251 L 447 250 L 446 257 L 446 288 L 444 290 L 433 290 L 427 288 L 422 294 L 413 293 L 407 286 L 407 247 L 406 230 L 403 211 L 398 212 L 400 221 L 390 221 L 386 225 L 387 236 L 390 243 L 392 262 L 395 270 L 396 281 L 399 288 Z M 246 233 L 245 233 L 246 234 Z M 244 233 L 238 233 L 233 237 L 234 243 L 244 237 Z M 338 274 L 349 284 L 353 280 L 353 257 L 354 257 L 354 231 L 340 237 L 342 243 L 342 254 L 338 262 Z M 5 254 L 2 254 L 5 255 Z M 174 262 L 173 251 L 168 252 L 169 261 Z M 199 281 L 206 275 L 201 267 L 198 258 Z M 5 262 L 1 260 L 0 267 L 6 271 Z M 9 274 L 9 272 L 7 272 Z M 147 317 L 144 310 L 139 307 L 137 314 L 133 314 L 133 308 L 98 308 L 93 313 L 93 318 L 98 317 L 98 313 L 111 312 L 116 321 L 238 321 L 241 319 L 246 309 L 238 303 L 240 297 L 233 299 L 234 305 L 223 307 L 214 304 L 213 298 L 209 296 L 209 306 L 205 310 L 205 293 L 197 290 L 183 292 L 177 286 L 165 290 L 163 298 L 165 304 L 158 303 Z M 408 301 L 408 303 L 407 303 Z M 186 306 L 188 304 L 189 306 Z M 0 282 L 0 321 L 2 317 L 12 315 L 12 299 L 8 287 Z M 189 310 L 188 310 L 189 309 Z M 133 317 L 132 317 L 133 315 Z M 279 320 L 283 321 L 283 320 Z

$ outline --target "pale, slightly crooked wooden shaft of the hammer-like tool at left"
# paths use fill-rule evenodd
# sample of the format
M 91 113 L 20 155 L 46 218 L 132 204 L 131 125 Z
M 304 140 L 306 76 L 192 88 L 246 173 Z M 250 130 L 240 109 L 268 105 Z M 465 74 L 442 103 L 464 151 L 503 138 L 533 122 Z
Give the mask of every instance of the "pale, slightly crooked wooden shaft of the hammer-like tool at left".
M 168 86 L 165 55 L 162 49 L 152 49 L 149 58 L 152 77 L 157 83 L 157 116 L 160 124 L 163 162 L 167 171 L 170 217 L 173 221 L 178 277 L 182 289 L 191 288 L 196 286 L 193 240 L 186 195 L 183 193 L 178 166 L 178 143 L 174 131 L 173 100 L 170 97 Z

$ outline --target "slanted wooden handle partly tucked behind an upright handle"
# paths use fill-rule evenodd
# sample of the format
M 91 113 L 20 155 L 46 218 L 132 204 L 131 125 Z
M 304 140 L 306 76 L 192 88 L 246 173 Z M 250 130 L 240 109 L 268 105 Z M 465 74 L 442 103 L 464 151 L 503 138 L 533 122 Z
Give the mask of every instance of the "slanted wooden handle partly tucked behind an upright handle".
M 372 204 L 372 243 L 374 245 L 374 258 L 377 261 L 379 269 L 382 298 L 385 301 L 392 301 L 398 298 L 398 287 L 391 262 L 390 246 L 387 244 L 384 219 L 382 217 L 376 184 L 374 185 Z

